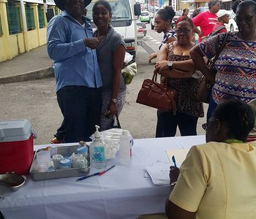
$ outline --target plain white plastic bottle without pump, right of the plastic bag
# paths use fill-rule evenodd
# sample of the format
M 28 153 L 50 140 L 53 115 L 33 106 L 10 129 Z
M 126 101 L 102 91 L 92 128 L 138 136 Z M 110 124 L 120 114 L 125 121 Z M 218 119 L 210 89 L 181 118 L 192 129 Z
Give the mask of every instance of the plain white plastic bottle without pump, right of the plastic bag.
M 120 137 L 120 164 L 129 165 L 132 157 L 132 136 L 129 131 L 123 130 Z

